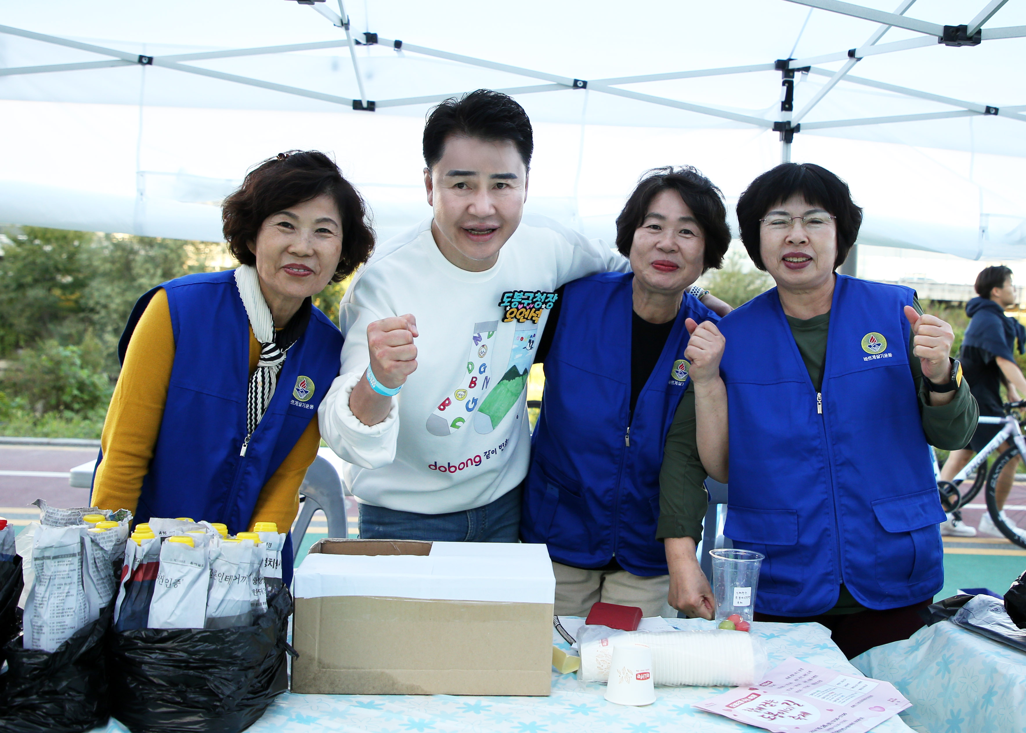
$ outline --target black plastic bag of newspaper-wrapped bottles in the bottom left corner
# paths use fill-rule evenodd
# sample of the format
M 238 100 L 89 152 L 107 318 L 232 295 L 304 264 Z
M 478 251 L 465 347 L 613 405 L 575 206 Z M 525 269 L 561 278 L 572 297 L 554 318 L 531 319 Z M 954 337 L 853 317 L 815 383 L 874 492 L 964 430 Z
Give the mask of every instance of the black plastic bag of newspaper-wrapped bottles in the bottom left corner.
M 16 601 L 15 601 L 16 602 Z M 104 638 L 113 606 L 78 629 L 55 652 L 5 645 L 0 675 L 0 730 L 4 733 L 79 733 L 107 724 Z

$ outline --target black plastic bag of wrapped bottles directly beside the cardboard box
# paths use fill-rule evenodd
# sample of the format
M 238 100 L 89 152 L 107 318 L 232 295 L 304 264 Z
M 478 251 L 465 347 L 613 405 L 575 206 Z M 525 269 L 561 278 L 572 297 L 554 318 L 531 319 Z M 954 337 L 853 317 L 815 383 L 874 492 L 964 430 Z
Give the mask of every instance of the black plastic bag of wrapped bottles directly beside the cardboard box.
M 287 688 L 292 597 L 251 626 L 111 634 L 111 715 L 133 733 L 238 733 Z

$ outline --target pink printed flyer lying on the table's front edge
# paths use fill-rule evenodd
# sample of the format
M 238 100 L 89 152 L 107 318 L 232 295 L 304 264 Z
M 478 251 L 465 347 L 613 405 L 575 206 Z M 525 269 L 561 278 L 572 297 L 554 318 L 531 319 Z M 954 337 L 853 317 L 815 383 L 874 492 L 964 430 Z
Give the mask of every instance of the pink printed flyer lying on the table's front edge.
M 891 683 L 788 658 L 753 687 L 695 705 L 774 733 L 863 733 L 912 703 Z

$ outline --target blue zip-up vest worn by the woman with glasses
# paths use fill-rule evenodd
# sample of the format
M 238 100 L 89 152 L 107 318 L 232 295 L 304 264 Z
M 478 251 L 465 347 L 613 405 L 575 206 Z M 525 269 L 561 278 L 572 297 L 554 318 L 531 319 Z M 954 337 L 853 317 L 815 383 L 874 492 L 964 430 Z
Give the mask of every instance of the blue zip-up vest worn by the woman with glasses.
M 837 276 L 819 398 L 776 288 L 719 325 L 731 438 L 724 534 L 766 556 L 758 611 L 823 613 L 841 583 L 868 608 L 898 608 L 943 585 L 945 516 L 903 313 L 913 295 Z

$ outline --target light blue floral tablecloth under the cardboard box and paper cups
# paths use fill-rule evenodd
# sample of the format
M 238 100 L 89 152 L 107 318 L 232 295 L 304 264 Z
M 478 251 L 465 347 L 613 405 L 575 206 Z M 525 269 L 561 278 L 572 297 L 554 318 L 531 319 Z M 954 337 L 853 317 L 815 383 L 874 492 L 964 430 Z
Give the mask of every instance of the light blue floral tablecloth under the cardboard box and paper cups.
M 677 619 L 667 619 L 676 625 Z M 793 656 L 843 671 L 859 673 L 818 623 L 753 623 L 770 661 L 779 664 Z M 567 645 L 555 633 L 553 644 Z M 629 707 L 606 702 L 604 685 L 579 683 L 577 675 L 552 676 L 549 697 L 469 697 L 456 695 L 293 695 L 275 700 L 249 731 L 372 731 L 373 733 L 657 733 L 659 731 L 756 731 L 711 712 L 692 707 L 725 687 L 657 687 L 656 702 Z M 879 733 L 909 728 L 899 718 L 877 726 Z M 963 729 L 965 731 L 970 728 Z M 125 728 L 111 721 L 108 733 Z

